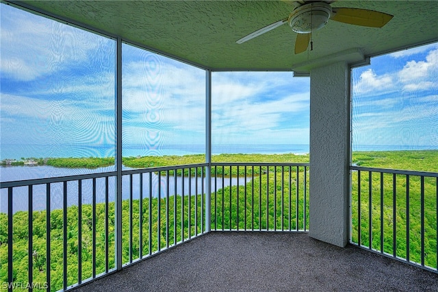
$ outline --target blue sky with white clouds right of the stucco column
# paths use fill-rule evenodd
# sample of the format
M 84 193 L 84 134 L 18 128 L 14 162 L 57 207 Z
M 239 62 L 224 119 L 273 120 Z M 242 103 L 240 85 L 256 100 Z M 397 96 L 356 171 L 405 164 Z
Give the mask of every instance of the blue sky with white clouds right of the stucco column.
M 438 149 L 438 44 L 371 59 L 352 71 L 353 149 Z

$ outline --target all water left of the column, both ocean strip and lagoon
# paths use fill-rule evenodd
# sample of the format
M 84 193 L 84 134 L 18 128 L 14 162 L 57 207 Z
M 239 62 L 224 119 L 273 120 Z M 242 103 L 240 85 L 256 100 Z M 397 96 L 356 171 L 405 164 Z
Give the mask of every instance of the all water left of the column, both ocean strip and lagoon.
M 309 152 L 309 145 L 212 145 L 212 154 L 284 154 L 296 153 L 304 154 Z M 203 154 L 205 153 L 205 145 L 168 145 L 166 147 L 147 148 L 140 145 L 131 145 L 123 147 L 123 156 L 164 156 L 164 155 L 188 155 L 188 154 Z M 1 160 L 3 159 L 17 159 L 21 158 L 58 158 L 58 157 L 114 157 L 114 145 L 30 145 L 30 144 L 8 144 L 2 143 L 0 148 Z M 123 170 L 129 169 L 123 167 Z M 98 169 L 72 169 L 59 168 L 50 166 L 23 166 L 23 167 L 0 167 L 0 182 L 10 182 L 16 180 L 32 180 L 38 178 L 53 178 L 68 175 L 80 175 L 86 173 L 102 173 L 108 171 L 115 171 L 114 166 L 101 167 Z M 162 182 L 158 182 L 158 177 L 155 173 L 152 174 L 152 196 L 158 196 L 157 184 L 162 186 L 160 194 L 167 195 L 166 180 L 161 177 Z M 184 180 L 184 187 L 183 181 Z M 196 193 L 196 183 L 198 186 L 197 193 L 201 193 L 202 182 L 201 178 L 181 178 L 177 177 L 177 194 L 185 195 Z M 227 178 L 224 180 L 222 186 L 222 179 L 218 178 L 215 182 L 211 180 L 211 186 L 216 184 L 217 188 L 225 186 L 234 186 L 239 180 L 240 184 L 244 184 L 244 178 Z M 104 179 L 96 180 L 96 202 L 105 202 Z M 110 178 L 109 199 L 114 202 L 115 179 Z M 143 190 L 145 196 L 149 194 L 149 175 L 144 175 Z M 175 180 L 173 177 L 169 178 L 169 195 L 175 193 Z M 123 177 L 123 198 L 129 198 L 129 176 Z M 205 182 L 204 182 L 205 187 Z M 133 198 L 140 197 L 140 179 L 139 175 L 133 175 Z M 46 188 L 45 185 L 34 186 L 34 210 L 46 209 Z M 77 205 L 77 182 L 68 182 L 67 184 L 67 205 Z M 91 204 L 92 200 L 92 180 L 84 180 L 82 182 L 83 204 Z M 28 210 L 28 190 L 27 187 L 14 188 L 13 193 L 13 212 L 19 210 Z M 51 184 L 51 210 L 62 208 L 63 206 L 63 184 Z M 0 191 L 0 212 L 8 211 L 8 190 L 1 189 Z

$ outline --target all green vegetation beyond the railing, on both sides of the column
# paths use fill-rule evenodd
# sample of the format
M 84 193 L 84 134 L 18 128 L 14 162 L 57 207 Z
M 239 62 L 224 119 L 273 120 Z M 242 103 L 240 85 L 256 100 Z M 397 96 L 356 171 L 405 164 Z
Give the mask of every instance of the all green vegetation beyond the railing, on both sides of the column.
M 131 167 L 157 167 L 164 165 L 179 165 L 202 162 L 203 156 L 164 156 L 163 158 L 124 158 L 124 164 Z M 60 160 L 61 161 L 61 160 Z M 64 160 L 66 162 L 67 160 Z M 214 156 L 214 162 L 308 162 L 309 156 L 261 155 L 261 154 L 229 154 Z M 438 171 L 438 151 L 370 151 L 353 154 L 353 162 L 363 167 L 378 167 L 385 169 L 410 169 L 417 171 Z M 203 168 L 198 168 L 200 171 Z M 192 169 L 192 174 L 197 169 Z M 261 171 L 260 171 L 261 170 Z M 276 171 L 275 171 L 276 170 Z M 232 186 L 219 188 L 211 193 L 211 229 L 213 230 L 296 230 L 309 228 L 309 173 L 307 173 L 307 198 L 304 199 L 304 167 L 298 168 L 298 195 L 296 190 L 296 167 L 291 173 L 286 167 L 281 175 L 281 167 L 217 167 L 217 175 L 224 180 L 229 175 L 249 175 L 254 173 L 254 180 L 246 186 Z M 212 169 L 214 171 L 214 168 Z M 309 169 L 307 169 L 309 172 Z M 261 175 L 259 175 L 261 173 Z M 187 175 L 188 172 L 185 172 Z M 162 175 L 166 175 L 162 172 Z M 181 173 L 179 173 L 181 175 Z M 290 180 L 289 180 L 290 175 Z M 358 188 L 358 172 L 352 172 L 352 241 L 364 246 L 370 245 L 370 222 L 372 240 L 375 250 L 383 250 L 389 254 L 396 254 L 417 263 L 421 262 L 421 217 L 420 217 L 420 178 L 411 176 L 409 187 L 406 175 L 396 175 L 393 182 L 392 174 L 383 175 L 383 204 L 381 204 L 381 175 L 371 175 L 368 171 L 361 171 L 360 193 Z M 396 191 L 393 192 L 393 185 Z M 409 189 L 409 204 L 407 204 L 407 188 Z M 290 199 L 289 199 L 290 193 Z M 424 264 L 437 267 L 437 180 L 424 179 Z M 360 195 L 360 198 L 359 198 Z M 393 198 L 395 197 L 395 203 Z M 197 195 L 182 199 L 181 195 L 170 196 L 158 200 L 157 198 L 143 199 L 142 212 L 140 200 L 123 201 L 123 263 L 136 260 L 140 256 L 140 221 L 142 222 L 141 254 L 147 255 L 173 245 L 183 239 L 188 239 L 201 233 L 205 224 L 205 209 L 202 208 L 205 196 Z M 298 202 L 298 204 L 297 204 Z M 359 208 L 360 202 L 360 208 Z M 306 208 L 304 208 L 306 205 Z M 166 214 L 166 206 L 168 213 Z M 175 208 L 176 206 L 176 208 Z M 223 209 L 222 209 L 223 206 Z M 371 206 L 371 218 L 368 207 Z M 394 208 L 395 206 L 395 208 Z M 409 208 L 409 212 L 407 212 Z M 132 212 L 130 212 L 130 210 Z M 149 211 L 151 210 L 151 212 Z M 359 215 L 360 210 L 360 215 Z M 383 213 L 383 217 L 381 217 Z M 130 214 L 132 215 L 130 217 Z M 141 214 L 141 215 L 140 215 Z M 289 215 L 290 214 L 290 215 Z M 297 216 L 298 214 L 298 216 Z M 92 264 L 95 258 L 96 274 L 105 271 L 105 264 L 109 269 L 114 268 L 114 203 L 108 204 L 108 213 L 105 213 L 105 204 L 96 204 L 95 222 L 93 228 L 92 206 L 83 205 L 81 212 L 81 280 L 92 277 Z M 16 212 L 13 216 L 14 241 L 14 281 L 27 282 L 27 266 L 29 256 L 33 263 L 34 282 L 44 283 L 46 279 L 46 212 L 33 213 L 33 251 L 27 252 L 28 247 L 28 214 Z M 306 216 L 306 221 L 305 221 Z M 409 216 L 409 230 L 407 217 Z M 140 217 L 142 220 L 140 220 Z M 298 217 L 298 218 L 297 218 Z M 167 219 L 168 218 L 168 219 Z M 105 250 L 105 219 L 108 220 L 108 249 Z M 360 219 L 360 229 L 359 229 Z M 67 210 L 67 275 L 68 285 L 78 281 L 79 255 L 79 208 L 71 206 Z M 131 222 L 131 224 L 130 224 Z M 395 222 L 395 224 L 394 224 Z M 381 234 L 381 225 L 383 232 Z M 0 282 L 8 281 L 8 219 L 0 213 Z M 52 210 L 50 214 L 50 245 L 51 245 L 51 290 L 62 289 L 64 233 L 62 210 Z M 130 230 L 130 226 L 132 229 Z M 176 226 L 176 229 L 175 229 Z M 394 228 L 396 236 L 394 237 Z M 93 230 L 96 233 L 96 255 L 93 257 Z M 129 234 L 132 233 L 131 241 Z M 409 234 L 408 234 L 409 232 Z M 383 235 L 383 238 L 381 236 Z M 409 248 L 407 247 L 409 238 Z M 383 245 L 381 245 L 383 241 Z M 394 248 L 395 247 L 395 248 Z M 105 263 L 105 258 L 108 262 Z

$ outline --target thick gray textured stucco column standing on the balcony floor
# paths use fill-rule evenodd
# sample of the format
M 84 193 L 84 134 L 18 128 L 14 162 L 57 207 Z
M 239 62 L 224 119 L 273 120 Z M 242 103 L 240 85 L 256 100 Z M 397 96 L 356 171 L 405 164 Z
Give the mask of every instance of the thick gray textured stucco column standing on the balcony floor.
M 349 238 L 349 73 L 346 62 L 310 72 L 309 236 L 344 247 Z

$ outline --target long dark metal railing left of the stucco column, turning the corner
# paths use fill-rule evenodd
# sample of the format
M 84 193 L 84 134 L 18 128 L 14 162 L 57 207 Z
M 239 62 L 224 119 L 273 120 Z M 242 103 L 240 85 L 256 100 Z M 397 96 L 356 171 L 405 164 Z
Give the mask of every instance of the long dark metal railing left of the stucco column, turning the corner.
M 121 206 L 116 171 L 2 182 L 2 289 L 65 291 L 210 230 L 307 231 L 308 172 L 277 163 L 125 170 Z

